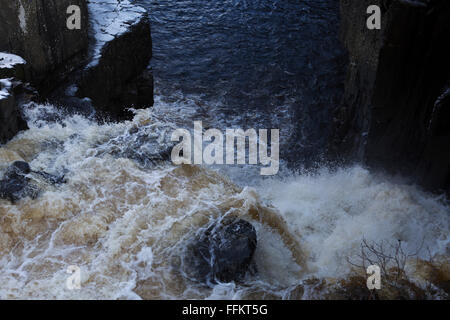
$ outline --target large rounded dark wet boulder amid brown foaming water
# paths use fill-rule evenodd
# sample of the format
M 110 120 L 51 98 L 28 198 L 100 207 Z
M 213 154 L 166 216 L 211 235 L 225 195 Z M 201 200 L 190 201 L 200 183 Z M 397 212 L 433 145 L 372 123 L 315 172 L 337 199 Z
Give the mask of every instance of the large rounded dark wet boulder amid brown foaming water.
M 240 281 L 249 270 L 256 243 L 256 231 L 249 222 L 217 223 L 188 246 L 187 274 L 203 283 Z

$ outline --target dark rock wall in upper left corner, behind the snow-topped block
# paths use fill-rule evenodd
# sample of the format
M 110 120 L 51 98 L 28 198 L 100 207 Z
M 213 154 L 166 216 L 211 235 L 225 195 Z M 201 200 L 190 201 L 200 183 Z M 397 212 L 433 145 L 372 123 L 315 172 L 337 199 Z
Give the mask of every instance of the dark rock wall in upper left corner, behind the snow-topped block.
M 66 27 L 70 5 L 81 9 L 81 30 Z M 0 89 L 9 93 L 0 100 L 0 143 L 5 143 L 26 129 L 19 105 L 32 91 L 27 83 L 45 98 L 85 61 L 89 39 L 86 0 L 0 0 L 0 7 L 0 52 L 23 58 L 11 64 L 2 59 L 11 54 L 0 54 L 0 79 L 11 83 Z

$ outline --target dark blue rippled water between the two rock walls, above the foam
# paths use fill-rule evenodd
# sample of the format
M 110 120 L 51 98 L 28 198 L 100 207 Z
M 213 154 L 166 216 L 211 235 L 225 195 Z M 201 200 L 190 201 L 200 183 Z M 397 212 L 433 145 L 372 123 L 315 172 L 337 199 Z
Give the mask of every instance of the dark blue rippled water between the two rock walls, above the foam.
M 279 128 L 282 159 L 320 155 L 343 83 L 335 0 L 140 0 L 156 94 L 216 127 Z M 288 146 L 288 147 L 286 147 Z

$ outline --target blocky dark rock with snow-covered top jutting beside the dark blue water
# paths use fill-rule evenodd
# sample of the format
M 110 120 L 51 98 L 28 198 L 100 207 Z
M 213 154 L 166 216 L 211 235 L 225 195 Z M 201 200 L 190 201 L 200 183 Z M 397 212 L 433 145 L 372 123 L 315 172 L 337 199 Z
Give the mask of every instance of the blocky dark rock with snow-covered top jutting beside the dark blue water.
M 83 71 L 77 96 L 97 110 L 129 118 L 128 107 L 153 105 L 150 22 L 145 9 L 116 0 L 89 3 L 94 31 L 92 61 Z

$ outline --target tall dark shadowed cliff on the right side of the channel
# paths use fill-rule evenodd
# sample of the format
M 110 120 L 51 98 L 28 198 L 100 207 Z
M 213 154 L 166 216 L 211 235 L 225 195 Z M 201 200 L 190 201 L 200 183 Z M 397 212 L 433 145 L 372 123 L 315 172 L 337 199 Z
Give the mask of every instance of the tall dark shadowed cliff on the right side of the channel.
M 369 5 L 381 30 L 366 27 Z M 341 0 L 345 97 L 331 150 L 450 190 L 450 2 Z

